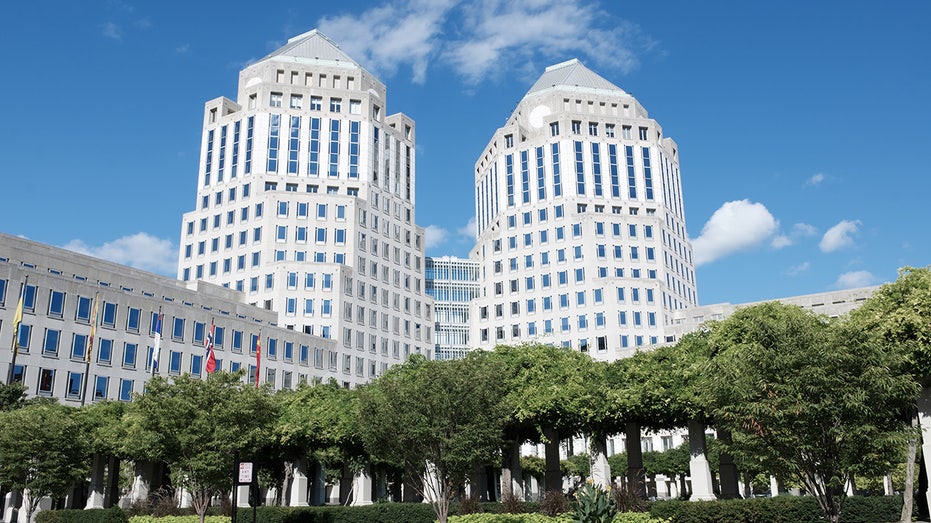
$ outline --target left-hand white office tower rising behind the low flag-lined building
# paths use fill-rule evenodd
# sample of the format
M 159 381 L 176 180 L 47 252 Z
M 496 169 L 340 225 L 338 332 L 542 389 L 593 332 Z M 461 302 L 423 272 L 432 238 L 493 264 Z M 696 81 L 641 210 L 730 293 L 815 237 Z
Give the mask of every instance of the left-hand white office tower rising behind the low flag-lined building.
M 336 339 L 325 366 L 356 384 L 431 355 L 414 122 L 316 30 L 247 66 L 205 104 L 196 209 L 178 277 L 244 293 L 278 323 Z

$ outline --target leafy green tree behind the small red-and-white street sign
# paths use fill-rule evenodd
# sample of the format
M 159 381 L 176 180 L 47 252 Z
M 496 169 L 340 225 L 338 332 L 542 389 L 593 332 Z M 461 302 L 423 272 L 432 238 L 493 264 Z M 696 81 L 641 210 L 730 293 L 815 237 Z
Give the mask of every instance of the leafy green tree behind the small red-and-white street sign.
M 241 372 L 158 376 L 129 405 L 124 448 L 167 463 L 203 523 L 210 499 L 232 489 L 235 456 L 253 455 L 270 437 L 274 407 L 268 390 L 244 384 Z

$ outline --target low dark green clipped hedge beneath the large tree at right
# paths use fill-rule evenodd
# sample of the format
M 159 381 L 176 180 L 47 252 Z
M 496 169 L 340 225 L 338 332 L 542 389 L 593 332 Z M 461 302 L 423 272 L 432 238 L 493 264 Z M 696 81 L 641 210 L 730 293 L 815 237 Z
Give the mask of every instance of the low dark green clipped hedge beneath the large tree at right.
M 844 500 L 841 523 L 898 521 L 902 498 L 853 496 Z M 818 501 L 810 496 L 729 499 L 718 501 L 656 501 L 650 514 L 672 523 L 821 523 Z

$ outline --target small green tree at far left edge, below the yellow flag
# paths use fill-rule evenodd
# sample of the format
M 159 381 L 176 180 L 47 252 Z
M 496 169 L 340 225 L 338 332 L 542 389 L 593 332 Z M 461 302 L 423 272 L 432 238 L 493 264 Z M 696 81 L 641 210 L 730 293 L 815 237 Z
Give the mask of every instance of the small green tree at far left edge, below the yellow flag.
M 64 496 L 87 471 L 75 409 L 53 401 L 0 411 L 0 484 L 29 491 L 26 520 L 45 496 Z

